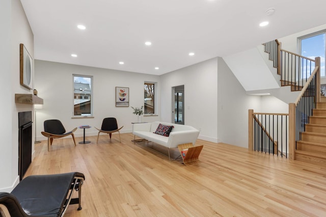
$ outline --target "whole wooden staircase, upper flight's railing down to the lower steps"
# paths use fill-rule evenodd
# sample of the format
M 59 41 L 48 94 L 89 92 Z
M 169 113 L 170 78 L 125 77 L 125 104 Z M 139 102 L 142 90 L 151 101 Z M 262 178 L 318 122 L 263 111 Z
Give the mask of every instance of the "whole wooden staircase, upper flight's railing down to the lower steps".
M 269 60 L 273 61 L 274 67 L 278 69 L 278 74 L 281 76 L 281 86 L 291 86 L 291 91 L 301 91 L 307 82 L 307 78 L 310 76 L 306 75 L 307 78 L 301 80 L 299 79 L 300 76 L 296 75 L 295 72 L 301 70 L 295 67 L 294 70 L 292 70 L 293 57 L 295 62 L 296 59 L 298 59 L 297 62 L 306 61 L 307 64 L 314 62 L 313 64 L 320 67 L 319 59 L 311 60 L 309 58 L 296 55 L 295 53 L 282 50 L 281 44 L 277 40 L 267 42 L 264 45 L 264 51 L 269 54 Z M 294 73 L 292 71 L 294 71 Z M 320 75 L 318 76 L 320 78 Z M 302 75 L 301 77 L 304 76 Z M 319 97 L 314 97 L 314 93 L 316 93 L 315 96 L 319 95 L 319 78 L 317 79 L 318 82 L 310 86 L 315 88 L 315 92 L 308 88 L 306 93 L 301 96 L 300 100 L 309 101 L 310 105 L 307 106 L 308 109 L 304 108 L 305 111 L 303 112 L 300 107 L 305 105 L 298 105 L 298 101 L 294 102 L 295 106 L 298 106 L 298 109 L 295 109 L 294 112 L 296 113 L 294 128 L 297 135 L 295 139 L 295 148 L 293 148 L 293 159 L 295 160 L 326 163 L 326 98 L 320 97 L 319 100 Z M 308 98 L 311 100 L 307 100 Z M 303 118 L 301 115 L 309 113 L 311 114 L 310 117 L 305 115 L 307 118 Z M 289 150 L 290 149 L 291 148 L 289 148 Z

